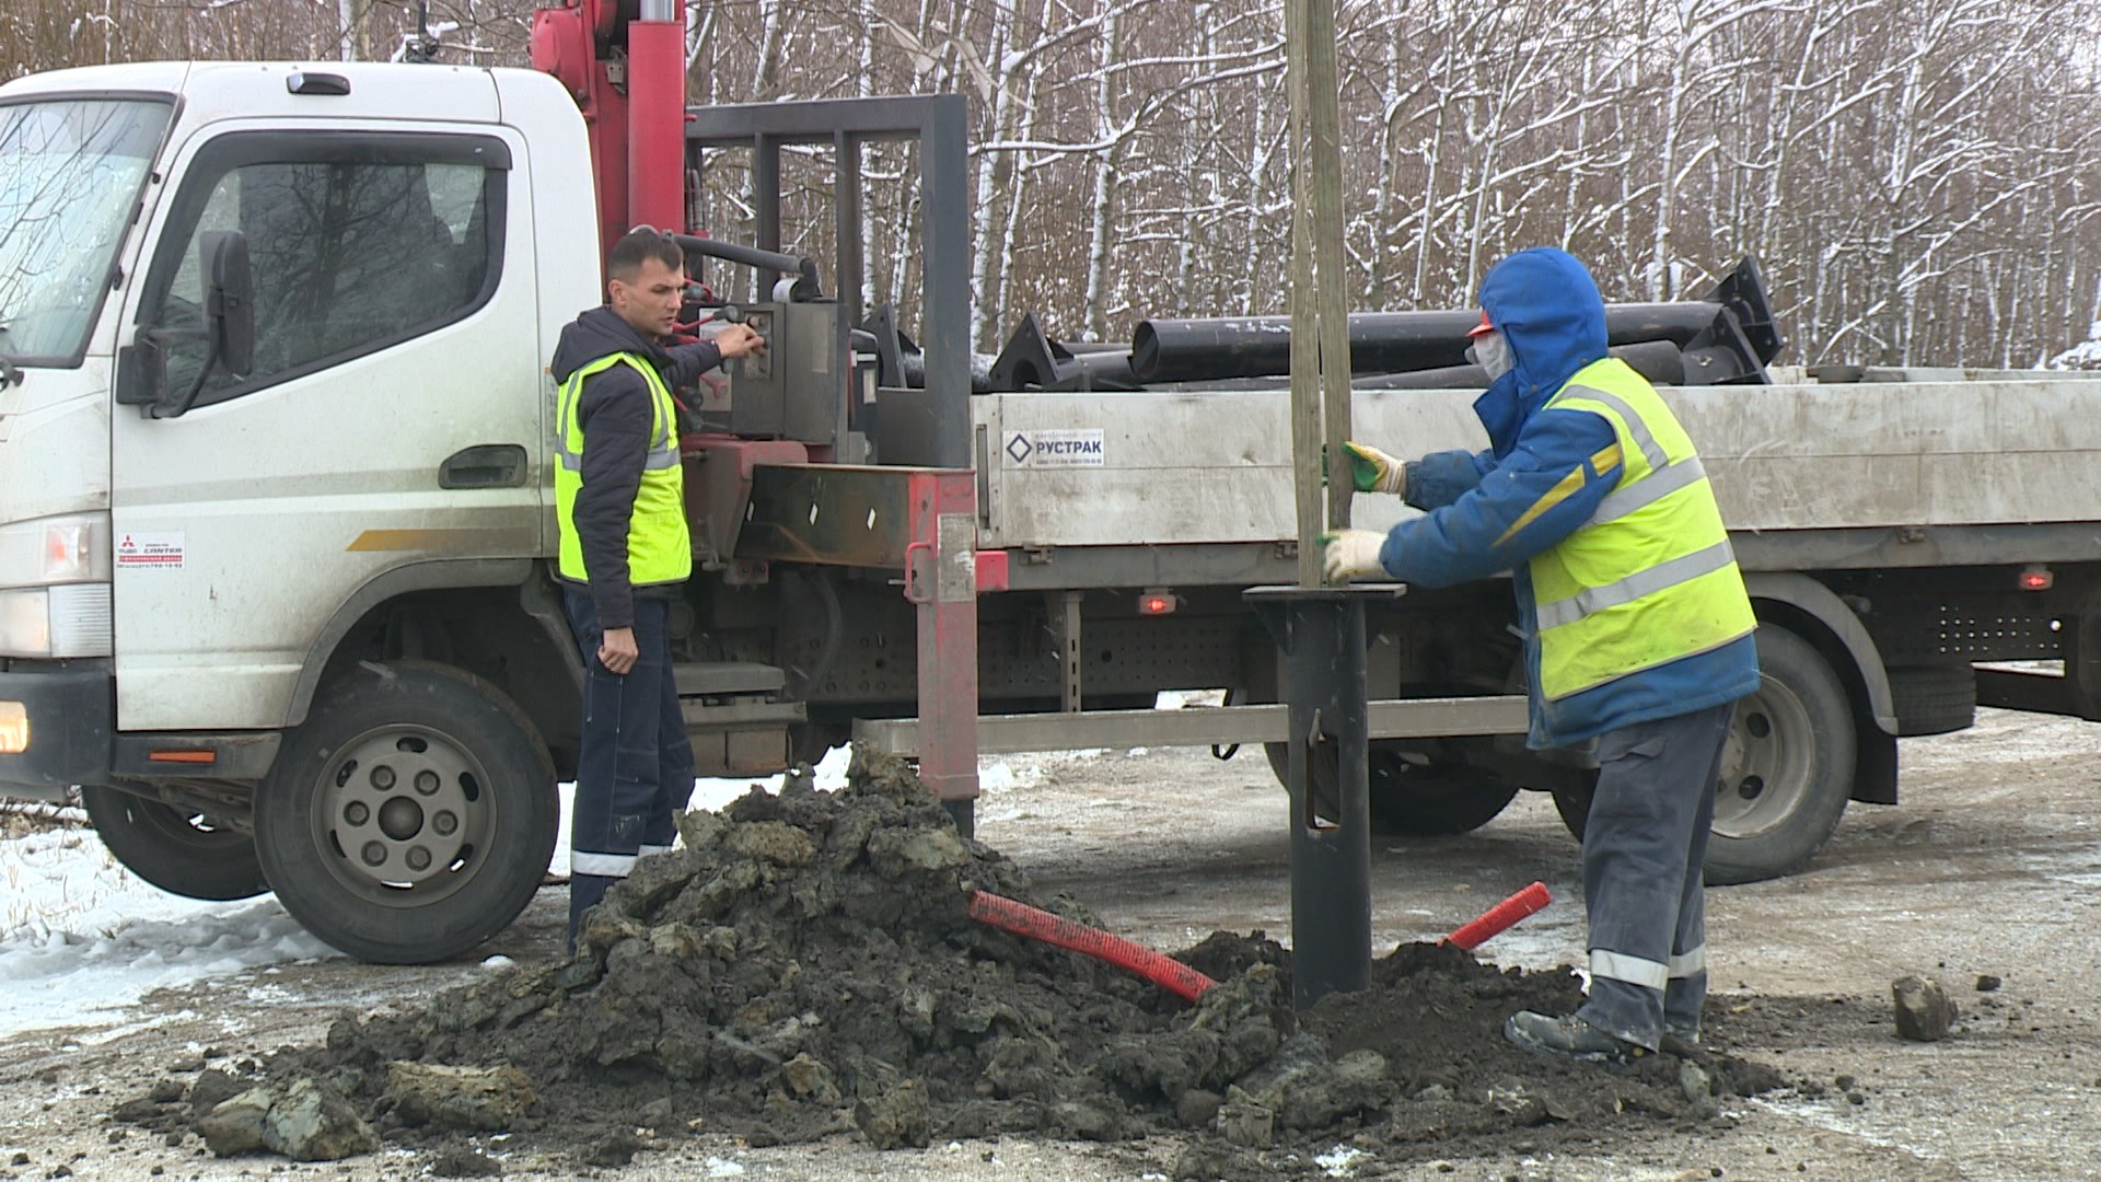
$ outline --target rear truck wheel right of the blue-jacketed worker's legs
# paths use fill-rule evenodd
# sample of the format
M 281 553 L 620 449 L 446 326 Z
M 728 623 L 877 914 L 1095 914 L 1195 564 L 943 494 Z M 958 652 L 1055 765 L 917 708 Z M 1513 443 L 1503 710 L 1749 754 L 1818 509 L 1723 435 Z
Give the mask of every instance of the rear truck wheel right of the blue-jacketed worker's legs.
M 1853 707 L 1830 663 L 1803 637 L 1759 627 L 1759 690 L 1735 705 L 1708 837 L 1710 885 L 1792 875 L 1815 854 L 1853 795 Z M 1561 822 L 1582 839 L 1597 778 L 1555 789 Z

